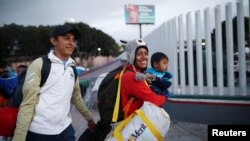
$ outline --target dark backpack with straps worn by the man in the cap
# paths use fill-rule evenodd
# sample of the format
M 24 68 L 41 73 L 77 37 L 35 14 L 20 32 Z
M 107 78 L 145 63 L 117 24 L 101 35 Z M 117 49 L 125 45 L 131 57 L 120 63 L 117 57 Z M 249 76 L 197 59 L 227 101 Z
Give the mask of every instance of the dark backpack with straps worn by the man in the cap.
M 51 61 L 48 58 L 48 55 L 45 55 L 42 57 L 43 59 L 43 63 L 42 63 L 42 69 L 41 69 L 41 82 L 40 82 L 40 87 L 42 87 L 44 85 L 44 83 L 46 82 L 49 73 L 50 73 L 50 69 L 51 69 Z M 77 71 L 75 66 L 72 66 L 73 71 L 74 71 L 74 75 L 75 75 L 75 80 L 77 79 Z M 24 84 L 24 80 L 26 77 L 26 73 L 27 70 L 24 70 L 18 79 L 17 82 L 17 86 L 15 87 L 15 90 L 13 92 L 12 95 L 12 101 L 11 101 L 11 107 L 19 107 L 21 102 L 22 102 L 22 98 L 23 98 L 23 84 Z

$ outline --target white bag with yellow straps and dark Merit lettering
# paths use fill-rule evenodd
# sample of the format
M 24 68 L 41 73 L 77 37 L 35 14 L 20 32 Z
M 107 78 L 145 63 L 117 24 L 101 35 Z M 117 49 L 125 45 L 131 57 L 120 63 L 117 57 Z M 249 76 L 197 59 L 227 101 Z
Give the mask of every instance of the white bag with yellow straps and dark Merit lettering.
M 168 113 L 150 103 L 122 121 L 107 141 L 158 141 L 163 140 L 170 126 Z

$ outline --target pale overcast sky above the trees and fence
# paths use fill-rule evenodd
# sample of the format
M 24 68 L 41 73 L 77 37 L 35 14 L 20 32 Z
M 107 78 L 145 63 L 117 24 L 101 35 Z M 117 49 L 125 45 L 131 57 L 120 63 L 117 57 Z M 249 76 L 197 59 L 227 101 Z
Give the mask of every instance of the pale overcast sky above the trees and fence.
M 83 22 L 102 30 L 117 42 L 139 37 L 138 25 L 126 25 L 124 5 L 154 5 L 155 24 L 143 25 L 143 37 L 163 22 L 180 14 L 203 11 L 237 0 L 0 0 L 0 26 L 57 25 L 66 21 Z M 248 1 L 244 1 L 248 3 Z

